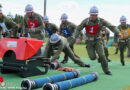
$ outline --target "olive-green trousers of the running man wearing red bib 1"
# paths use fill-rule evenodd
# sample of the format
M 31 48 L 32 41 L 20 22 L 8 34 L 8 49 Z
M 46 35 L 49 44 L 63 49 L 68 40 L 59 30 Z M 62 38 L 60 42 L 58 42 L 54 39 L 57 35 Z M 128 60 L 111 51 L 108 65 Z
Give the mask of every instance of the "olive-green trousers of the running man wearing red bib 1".
M 89 58 L 91 60 L 97 59 L 97 55 L 96 55 L 97 53 L 104 73 L 108 72 L 109 71 L 108 62 L 106 61 L 106 57 L 104 55 L 104 46 L 102 40 L 101 39 L 92 40 L 92 41 L 87 40 L 86 44 L 87 44 L 86 48 L 87 48 Z

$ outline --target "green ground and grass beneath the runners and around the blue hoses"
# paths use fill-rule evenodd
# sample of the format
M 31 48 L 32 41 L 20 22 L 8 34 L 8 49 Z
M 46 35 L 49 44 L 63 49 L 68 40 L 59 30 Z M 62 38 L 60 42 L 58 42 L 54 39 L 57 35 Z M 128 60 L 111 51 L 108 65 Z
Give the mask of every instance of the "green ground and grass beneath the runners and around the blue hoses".
M 75 69 L 78 69 L 81 73 L 81 76 L 87 75 L 92 72 L 98 72 L 99 73 L 99 79 L 95 82 L 88 83 L 76 88 L 73 88 L 71 90 L 130 90 L 130 58 L 126 57 L 125 52 L 125 61 L 126 66 L 122 66 L 120 63 L 120 56 L 119 52 L 117 55 L 115 55 L 115 47 L 109 48 L 109 58 L 112 60 L 112 62 L 109 63 L 110 71 L 112 72 L 112 76 L 105 75 L 101 69 L 101 66 L 99 63 L 97 63 L 97 60 L 91 61 L 88 58 L 85 44 L 79 44 L 75 45 L 74 51 L 77 55 L 81 57 L 81 59 L 85 63 L 89 63 L 91 65 L 91 68 L 84 68 L 79 67 L 78 65 L 74 64 L 72 60 L 69 60 L 67 64 L 62 65 L 63 67 L 72 67 Z M 63 54 L 60 58 L 60 61 L 63 60 Z M 48 77 L 56 74 L 64 73 L 63 71 L 58 70 L 49 70 L 47 74 L 40 75 L 40 76 L 33 76 L 28 77 L 30 80 L 34 80 L 37 78 L 43 78 Z M 20 83 L 23 78 L 19 77 L 17 74 L 1 74 L 0 76 L 4 77 L 4 82 L 6 83 L 6 87 L 1 87 L 0 90 L 20 90 Z M 37 89 L 42 90 L 42 89 Z

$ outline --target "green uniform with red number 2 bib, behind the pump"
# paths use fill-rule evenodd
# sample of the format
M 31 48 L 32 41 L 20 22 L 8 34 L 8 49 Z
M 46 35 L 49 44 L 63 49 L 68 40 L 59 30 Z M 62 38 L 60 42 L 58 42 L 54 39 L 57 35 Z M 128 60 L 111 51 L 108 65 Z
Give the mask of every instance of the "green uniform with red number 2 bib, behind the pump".
M 35 28 L 35 32 L 30 31 L 30 28 L 32 27 Z M 37 13 L 34 13 L 34 15 L 29 18 L 25 15 L 23 33 L 29 33 L 31 38 L 44 40 L 44 24 L 42 16 Z

